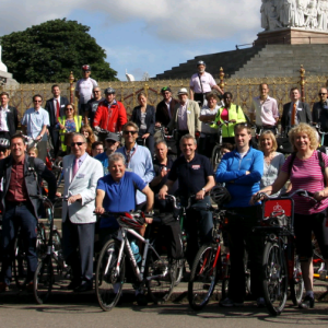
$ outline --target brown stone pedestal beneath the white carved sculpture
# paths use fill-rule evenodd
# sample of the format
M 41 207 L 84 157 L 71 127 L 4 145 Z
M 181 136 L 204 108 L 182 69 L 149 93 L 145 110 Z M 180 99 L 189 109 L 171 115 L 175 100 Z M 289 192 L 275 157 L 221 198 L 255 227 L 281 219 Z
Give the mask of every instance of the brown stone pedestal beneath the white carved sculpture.
M 261 32 L 254 42 L 255 46 L 265 45 L 309 45 L 328 44 L 328 33 L 309 31 L 305 28 L 280 28 L 277 31 Z

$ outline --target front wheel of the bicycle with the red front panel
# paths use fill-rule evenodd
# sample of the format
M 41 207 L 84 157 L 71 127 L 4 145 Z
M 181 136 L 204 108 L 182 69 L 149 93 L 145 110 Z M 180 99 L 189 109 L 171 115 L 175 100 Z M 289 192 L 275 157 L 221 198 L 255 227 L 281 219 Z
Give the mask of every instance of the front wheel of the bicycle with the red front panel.
M 269 312 L 280 315 L 286 302 L 288 272 L 283 250 L 276 242 L 268 242 L 263 251 L 263 292 Z

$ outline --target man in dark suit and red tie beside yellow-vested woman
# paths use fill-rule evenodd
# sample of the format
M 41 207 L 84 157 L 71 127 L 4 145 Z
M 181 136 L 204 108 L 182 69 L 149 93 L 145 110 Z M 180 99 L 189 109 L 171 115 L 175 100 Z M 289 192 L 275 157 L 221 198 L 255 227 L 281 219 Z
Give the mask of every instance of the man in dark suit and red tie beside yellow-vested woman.
M 46 102 L 45 109 L 49 113 L 49 132 L 54 145 L 55 156 L 57 156 L 60 142 L 59 131 L 55 131 L 55 126 L 58 122 L 58 117 L 65 116 L 65 107 L 69 104 L 69 99 L 60 96 L 60 89 L 57 84 L 51 86 L 51 92 L 54 94 L 54 98 L 50 98 Z

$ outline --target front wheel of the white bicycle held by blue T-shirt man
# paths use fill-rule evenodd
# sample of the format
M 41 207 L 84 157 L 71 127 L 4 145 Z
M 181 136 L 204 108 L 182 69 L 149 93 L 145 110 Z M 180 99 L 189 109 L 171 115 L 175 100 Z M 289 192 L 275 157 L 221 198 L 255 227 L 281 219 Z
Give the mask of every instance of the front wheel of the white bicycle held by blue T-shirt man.
M 117 304 L 125 281 L 125 256 L 116 270 L 120 243 L 108 241 L 98 257 L 96 267 L 95 291 L 97 301 L 103 311 L 110 311 Z

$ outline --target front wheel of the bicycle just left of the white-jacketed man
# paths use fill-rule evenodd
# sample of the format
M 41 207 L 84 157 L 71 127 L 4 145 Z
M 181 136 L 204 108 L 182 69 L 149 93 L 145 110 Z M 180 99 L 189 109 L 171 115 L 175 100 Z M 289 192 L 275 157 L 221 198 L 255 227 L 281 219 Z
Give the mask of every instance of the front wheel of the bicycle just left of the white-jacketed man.
M 33 295 L 37 304 L 48 301 L 54 283 L 52 258 L 46 256 L 37 266 L 33 279 Z

